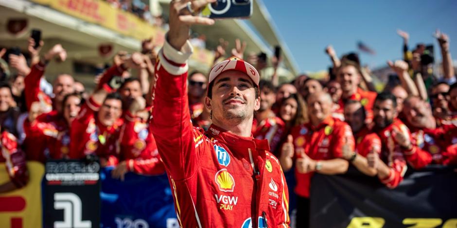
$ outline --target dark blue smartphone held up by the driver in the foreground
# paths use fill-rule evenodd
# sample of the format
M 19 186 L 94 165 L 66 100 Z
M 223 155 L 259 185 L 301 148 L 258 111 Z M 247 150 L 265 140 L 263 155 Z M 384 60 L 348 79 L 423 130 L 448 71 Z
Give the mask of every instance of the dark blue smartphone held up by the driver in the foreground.
M 200 13 L 213 19 L 248 18 L 252 15 L 252 0 L 216 0 Z

